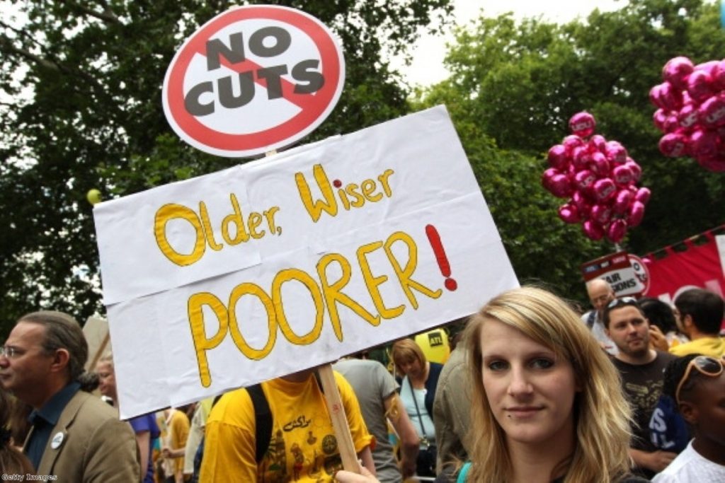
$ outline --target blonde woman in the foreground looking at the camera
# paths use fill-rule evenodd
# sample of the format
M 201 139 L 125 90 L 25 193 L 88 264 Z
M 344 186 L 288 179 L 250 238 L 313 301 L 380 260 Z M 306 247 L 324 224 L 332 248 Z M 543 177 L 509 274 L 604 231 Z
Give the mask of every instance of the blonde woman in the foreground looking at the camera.
M 571 308 L 534 287 L 509 290 L 466 329 L 475 483 L 611 483 L 629 475 L 629 406 L 616 369 Z M 371 482 L 340 472 L 343 483 Z

